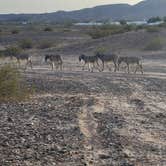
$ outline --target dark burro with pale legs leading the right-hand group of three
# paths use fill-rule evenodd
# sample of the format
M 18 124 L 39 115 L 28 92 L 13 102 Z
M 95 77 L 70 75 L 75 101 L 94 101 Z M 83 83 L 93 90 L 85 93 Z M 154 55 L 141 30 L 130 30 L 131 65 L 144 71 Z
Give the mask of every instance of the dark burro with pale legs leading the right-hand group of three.
M 81 60 L 84 61 L 82 70 L 84 70 L 86 64 L 88 64 L 88 71 L 93 72 L 93 69 L 95 68 L 95 64 L 97 64 L 97 68 L 100 71 L 97 56 L 87 56 L 87 55 L 82 54 L 79 56 L 79 61 L 81 62 Z

